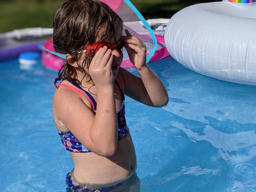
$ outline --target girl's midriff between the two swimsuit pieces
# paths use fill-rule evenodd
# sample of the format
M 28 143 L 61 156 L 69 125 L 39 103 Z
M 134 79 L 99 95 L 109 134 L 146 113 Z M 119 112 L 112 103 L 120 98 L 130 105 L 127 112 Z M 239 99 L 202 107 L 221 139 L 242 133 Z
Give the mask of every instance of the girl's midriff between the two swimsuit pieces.
M 93 152 L 69 153 L 74 161 L 74 177 L 81 184 L 116 184 L 129 177 L 137 166 L 130 133 L 117 141 L 112 157 L 101 157 Z

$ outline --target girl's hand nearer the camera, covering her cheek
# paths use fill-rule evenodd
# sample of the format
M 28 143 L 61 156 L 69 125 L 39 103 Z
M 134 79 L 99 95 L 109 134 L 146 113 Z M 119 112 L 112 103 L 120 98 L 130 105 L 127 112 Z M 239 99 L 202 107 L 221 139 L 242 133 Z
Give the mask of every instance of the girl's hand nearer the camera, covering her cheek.
M 106 46 L 100 48 L 93 57 L 89 67 L 89 74 L 97 88 L 113 87 L 114 76 L 111 69 L 112 62 L 113 54 L 111 53 L 111 49 L 108 49 Z

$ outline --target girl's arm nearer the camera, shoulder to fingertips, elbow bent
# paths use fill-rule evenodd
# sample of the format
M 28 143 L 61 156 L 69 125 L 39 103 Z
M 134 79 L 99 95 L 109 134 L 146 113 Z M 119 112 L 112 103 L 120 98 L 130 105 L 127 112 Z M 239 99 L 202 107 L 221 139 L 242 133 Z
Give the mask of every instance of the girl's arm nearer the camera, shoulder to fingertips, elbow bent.
M 97 87 L 97 113 L 68 89 L 56 91 L 55 114 L 76 138 L 90 151 L 103 157 L 115 154 L 117 147 L 117 115 L 114 99 L 113 55 L 106 47 L 91 61 L 89 73 Z

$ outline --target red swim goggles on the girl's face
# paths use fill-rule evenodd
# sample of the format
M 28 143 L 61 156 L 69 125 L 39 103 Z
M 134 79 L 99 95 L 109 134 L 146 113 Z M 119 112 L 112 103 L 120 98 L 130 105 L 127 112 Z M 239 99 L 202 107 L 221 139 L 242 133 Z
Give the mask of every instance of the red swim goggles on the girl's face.
M 126 36 L 121 36 L 120 39 L 118 39 L 118 41 L 116 43 L 113 44 L 106 44 L 106 43 L 95 43 L 95 44 L 91 44 L 91 45 L 87 45 L 85 47 L 85 50 L 79 51 L 78 53 L 87 53 L 90 56 L 94 56 L 97 51 L 99 50 L 99 48 L 103 48 L 103 46 L 107 46 L 108 49 L 114 49 L 117 47 L 119 49 L 122 49 L 124 47 L 124 39 Z M 69 54 L 66 54 L 66 56 L 68 56 Z

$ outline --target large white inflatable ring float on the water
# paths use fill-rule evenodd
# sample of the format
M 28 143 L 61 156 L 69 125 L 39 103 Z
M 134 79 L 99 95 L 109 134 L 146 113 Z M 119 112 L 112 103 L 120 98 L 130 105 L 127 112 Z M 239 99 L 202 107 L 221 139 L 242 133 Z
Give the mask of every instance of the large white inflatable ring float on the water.
M 177 12 L 165 45 L 180 64 L 229 82 L 256 85 L 256 0 L 223 0 Z

